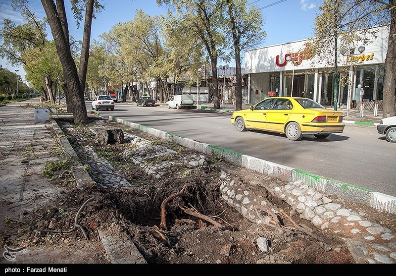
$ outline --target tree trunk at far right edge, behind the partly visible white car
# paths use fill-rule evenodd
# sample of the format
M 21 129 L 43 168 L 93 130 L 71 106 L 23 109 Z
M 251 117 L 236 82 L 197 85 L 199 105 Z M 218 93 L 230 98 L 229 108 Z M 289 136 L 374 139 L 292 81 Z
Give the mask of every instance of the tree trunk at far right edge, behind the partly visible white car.
M 390 6 L 396 0 L 390 0 Z M 383 90 L 383 118 L 395 116 L 396 109 L 396 8 L 390 9 L 391 25 L 389 27 L 388 52 L 385 58 L 385 85 Z

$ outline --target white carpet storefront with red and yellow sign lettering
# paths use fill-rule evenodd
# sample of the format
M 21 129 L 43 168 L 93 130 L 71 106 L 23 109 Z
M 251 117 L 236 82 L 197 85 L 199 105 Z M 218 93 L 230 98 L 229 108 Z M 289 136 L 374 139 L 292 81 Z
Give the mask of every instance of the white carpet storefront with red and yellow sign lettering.
M 350 103 L 352 108 L 362 100 L 382 100 L 389 26 L 374 29 L 377 38 L 370 44 L 339 51 L 339 107 Z M 271 96 L 293 96 L 307 97 L 325 106 L 334 105 L 334 65 L 306 55 L 307 42 L 301 40 L 246 52 L 248 103 L 255 104 Z M 361 89 L 357 88 L 359 84 Z

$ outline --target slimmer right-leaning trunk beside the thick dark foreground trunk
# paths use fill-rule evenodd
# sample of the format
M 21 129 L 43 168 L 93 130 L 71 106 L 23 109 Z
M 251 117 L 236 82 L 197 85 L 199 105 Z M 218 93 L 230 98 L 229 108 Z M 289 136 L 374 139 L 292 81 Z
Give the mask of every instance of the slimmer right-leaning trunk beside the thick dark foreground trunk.
M 87 78 L 88 59 L 90 56 L 91 26 L 92 16 L 94 14 L 94 2 L 95 0 L 88 0 L 86 3 L 83 44 L 81 46 L 80 66 L 78 68 L 78 77 L 80 79 L 83 97 L 85 91 L 85 80 Z

